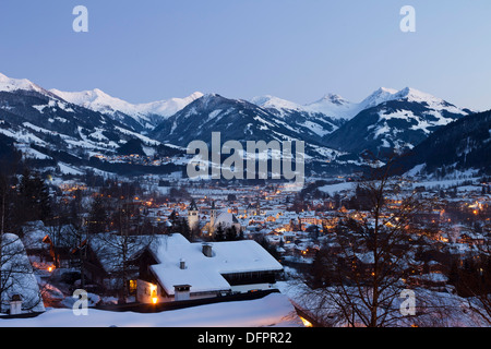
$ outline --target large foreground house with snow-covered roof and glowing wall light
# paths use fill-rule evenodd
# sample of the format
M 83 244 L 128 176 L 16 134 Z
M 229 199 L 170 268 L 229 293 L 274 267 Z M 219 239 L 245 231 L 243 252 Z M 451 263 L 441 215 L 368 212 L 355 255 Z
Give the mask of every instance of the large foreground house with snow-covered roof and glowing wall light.
M 140 258 L 136 301 L 160 303 L 274 288 L 283 266 L 253 240 L 189 242 L 159 236 Z

